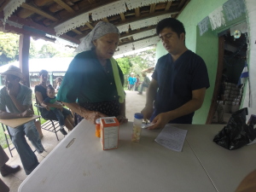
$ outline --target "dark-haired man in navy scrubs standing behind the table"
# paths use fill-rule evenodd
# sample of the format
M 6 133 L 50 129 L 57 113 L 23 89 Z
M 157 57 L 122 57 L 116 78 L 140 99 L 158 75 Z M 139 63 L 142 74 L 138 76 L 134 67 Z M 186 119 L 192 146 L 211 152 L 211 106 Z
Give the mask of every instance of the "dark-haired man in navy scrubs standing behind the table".
M 210 86 L 206 64 L 187 49 L 185 29 L 179 20 L 160 20 L 156 32 L 168 54 L 155 66 L 142 110 L 144 119 L 154 123 L 148 129 L 163 128 L 168 123 L 191 124 Z

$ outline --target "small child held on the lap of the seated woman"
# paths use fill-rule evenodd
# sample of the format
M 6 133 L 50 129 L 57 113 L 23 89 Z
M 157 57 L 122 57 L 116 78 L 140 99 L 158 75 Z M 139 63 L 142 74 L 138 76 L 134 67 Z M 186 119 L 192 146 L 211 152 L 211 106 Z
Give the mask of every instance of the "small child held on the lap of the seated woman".
M 55 88 L 53 88 L 53 86 L 51 84 L 48 84 L 47 86 L 47 96 L 44 99 L 44 104 L 47 105 L 49 103 L 51 104 L 55 104 L 55 105 L 61 105 L 61 102 L 57 102 L 57 98 L 55 96 Z M 50 110 L 52 110 L 53 113 L 55 113 L 57 119 L 59 120 L 59 124 L 60 124 L 60 131 L 61 133 L 65 136 L 67 135 L 67 132 L 64 130 L 64 116 L 61 113 L 61 111 L 63 110 L 62 108 L 49 108 Z

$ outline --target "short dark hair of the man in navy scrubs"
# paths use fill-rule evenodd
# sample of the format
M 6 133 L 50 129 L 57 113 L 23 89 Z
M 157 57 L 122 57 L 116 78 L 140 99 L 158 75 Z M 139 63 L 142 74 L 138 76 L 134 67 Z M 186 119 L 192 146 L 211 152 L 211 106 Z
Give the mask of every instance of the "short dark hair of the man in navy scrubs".
M 174 18 L 166 18 L 164 20 L 160 20 L 156 25 L 156 34 L 159 35 L 160 32 L 166 27 L 171 28 L 173 32 L 176 32 L 178 38 L 181 33 L 186 34 L 183 23 Z

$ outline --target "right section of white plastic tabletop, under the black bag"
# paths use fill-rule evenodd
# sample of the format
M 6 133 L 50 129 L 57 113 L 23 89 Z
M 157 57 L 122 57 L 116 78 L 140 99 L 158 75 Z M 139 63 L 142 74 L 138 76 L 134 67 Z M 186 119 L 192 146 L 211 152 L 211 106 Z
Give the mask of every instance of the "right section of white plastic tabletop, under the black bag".
M 256 169 L 256 143 L 236 150 L 212 140 L 224 125 L 175 125 L 188 130 L 186 140 L 219 192 L 235 191 L 241 180 Z

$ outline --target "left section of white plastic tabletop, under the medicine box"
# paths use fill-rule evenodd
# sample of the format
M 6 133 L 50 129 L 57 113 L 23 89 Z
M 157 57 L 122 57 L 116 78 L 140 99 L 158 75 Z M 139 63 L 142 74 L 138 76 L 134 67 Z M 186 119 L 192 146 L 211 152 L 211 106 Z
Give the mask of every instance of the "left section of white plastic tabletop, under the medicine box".
M 175 152 L 154 142 L 159 130 L 143 130 L 141 142 L 131 143 L 131 130 L 131 122 L 121 125 L 119 148 L 103 151 L 95 125 L 83 120 L 19 191 L 216 191 L 188 142 Z

